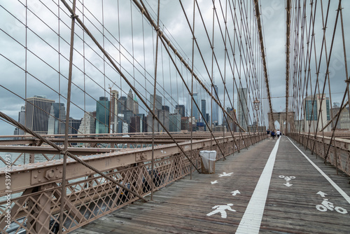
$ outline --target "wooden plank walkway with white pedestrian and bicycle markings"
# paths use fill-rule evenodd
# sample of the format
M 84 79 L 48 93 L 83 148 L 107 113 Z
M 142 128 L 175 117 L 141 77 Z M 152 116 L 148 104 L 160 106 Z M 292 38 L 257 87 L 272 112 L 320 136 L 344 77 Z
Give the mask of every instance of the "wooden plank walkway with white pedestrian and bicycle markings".
M 134 202 L 72 233 L 350 233 L 349 177 L 304 152 L 341 195 L 287 137 L 273 160 L 276 142 L 255 144 L 216 162 L 216 174 L 194 173 L 157 191 L 154 201 Z

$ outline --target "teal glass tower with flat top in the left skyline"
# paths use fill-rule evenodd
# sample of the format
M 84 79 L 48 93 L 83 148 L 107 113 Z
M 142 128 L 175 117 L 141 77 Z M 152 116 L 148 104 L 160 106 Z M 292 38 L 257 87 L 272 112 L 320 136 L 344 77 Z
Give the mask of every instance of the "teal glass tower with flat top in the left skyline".
M 99 97 L 96 102 L 96 133 L 109 133 L 109 99 Z

